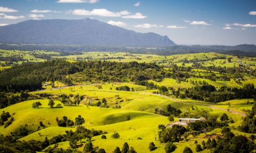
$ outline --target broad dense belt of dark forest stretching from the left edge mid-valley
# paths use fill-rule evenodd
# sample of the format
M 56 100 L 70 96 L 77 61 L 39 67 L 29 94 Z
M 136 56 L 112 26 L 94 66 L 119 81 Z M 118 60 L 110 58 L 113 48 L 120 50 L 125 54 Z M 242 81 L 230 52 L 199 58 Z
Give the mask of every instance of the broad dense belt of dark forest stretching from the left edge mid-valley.
M 81 72 L 80 77 L 69 74 Z M 137 81 L 141 78 L 163 79 L 164 70 L 153 63 L 118 63 L 102 61 L 83 61 L 70 63 L 64 60 L 51 60 L 38 64 L 13 66 L 0 72 L 0 91 L 41 89 L 46 81 L 61 81 L 71 84 L 72 81 Z M 144 77 L 147 76 L 147 77 Z

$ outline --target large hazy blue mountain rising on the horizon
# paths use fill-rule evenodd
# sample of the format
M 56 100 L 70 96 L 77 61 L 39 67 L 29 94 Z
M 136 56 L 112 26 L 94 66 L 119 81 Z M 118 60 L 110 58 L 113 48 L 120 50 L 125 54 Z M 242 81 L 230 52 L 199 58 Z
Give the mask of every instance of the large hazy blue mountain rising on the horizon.
M 167 36 L 136 33 L 95 19 L 28 20 L 0 27 L 0 42 L 34 44 L 91 44 L 172 46 Z

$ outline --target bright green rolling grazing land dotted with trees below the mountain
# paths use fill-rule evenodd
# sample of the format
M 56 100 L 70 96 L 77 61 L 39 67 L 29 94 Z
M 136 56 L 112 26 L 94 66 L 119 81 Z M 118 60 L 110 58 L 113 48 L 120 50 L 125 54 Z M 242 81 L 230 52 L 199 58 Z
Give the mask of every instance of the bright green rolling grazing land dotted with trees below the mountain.
M 127 142 L 137 152 L 196 152 L 198 144 L 209 152 L 241 140 L 254 150 L 254 57 L 3 49 L 0 57 L 8 144 L 0 147 L 79 152 L 92 143 L 90 151 L 112 152 Z M 201 120 L 164 126 L 179 118 Z

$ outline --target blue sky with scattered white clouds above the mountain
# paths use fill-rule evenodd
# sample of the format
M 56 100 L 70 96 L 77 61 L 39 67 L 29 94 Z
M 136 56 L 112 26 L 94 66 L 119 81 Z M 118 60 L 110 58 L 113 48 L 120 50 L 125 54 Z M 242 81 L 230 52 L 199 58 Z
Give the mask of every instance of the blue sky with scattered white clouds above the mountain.
M 93 18 L 177 44 L 256 45 L 255 0 L 0 0 L 0 25 Z

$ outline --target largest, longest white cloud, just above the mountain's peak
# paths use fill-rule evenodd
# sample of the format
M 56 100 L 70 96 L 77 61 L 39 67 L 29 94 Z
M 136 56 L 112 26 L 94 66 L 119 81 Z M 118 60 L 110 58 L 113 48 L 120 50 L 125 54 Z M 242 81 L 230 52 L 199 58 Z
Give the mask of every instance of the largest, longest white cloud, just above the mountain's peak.
M 68 11 L 67 13 L 69 13 Z M 119 17 L 121 15 L 128 15 L 130 12 L 121 11 L 121 12 L 111 12 L 106 9 L 93 9 L 92 11 L 84 10 L 84 9 L 76 9 L 72 11 L 74 15 L 98 15 L 98 16 L 110 16 L 110 17 Z

